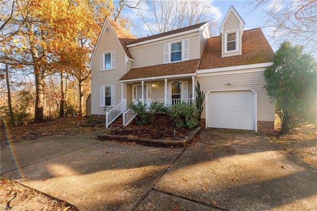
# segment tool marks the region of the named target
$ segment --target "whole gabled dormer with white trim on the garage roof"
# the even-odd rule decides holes
[[[230,6],[219,27],[222,57],[242,54],[244,24],[244,21],[235,8]]]

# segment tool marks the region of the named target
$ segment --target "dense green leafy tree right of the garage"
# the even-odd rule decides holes
[[[317,61],[303,46],[281,44],[273,64],[264,71],[267,94],[276,101],[280,133],[317,119]]]

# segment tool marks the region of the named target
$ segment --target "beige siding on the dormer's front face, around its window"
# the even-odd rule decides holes
[[[224,32],[230,32],[230,31],[234,31],[236,29],[239,29],[239,20],[237,19],[237,17],[234,15],[233,12],[230,13],[228,19],[226,20],[226,22],[224,23]],[[238,30],[238,35],[237,35],[237,42],[238,42],[238,52],[232,52],[232,53],[225,53],[224,49],[225,49],[225,43],[224,43],[224,36],[225,34],[223,34],[221,36],[221,40],[222,40],[222,57],[227,57],[227,56],[234,56],[234,55],[240,55],[241,54],[241,50],[242,50],[242,31],[240,32]]]

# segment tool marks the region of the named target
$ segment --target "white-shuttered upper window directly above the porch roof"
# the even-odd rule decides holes
[[[189,39],[164,44],[164,63],[189,59]]]

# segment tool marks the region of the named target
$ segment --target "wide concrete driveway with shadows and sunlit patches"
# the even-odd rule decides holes
[[[80,210],[317,209],[316,170],[254,131],[205,129],[181,149],[93,136],[2,147],[1,176]]]

